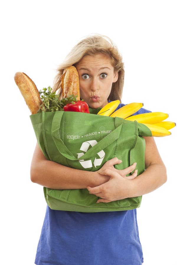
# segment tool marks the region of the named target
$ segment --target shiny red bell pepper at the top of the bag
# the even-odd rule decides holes
[[[76,111],[76,112],[89,112],[88,104],[83,100],[73,101],[72,103],[68,103],[63,107],[64,111]]]

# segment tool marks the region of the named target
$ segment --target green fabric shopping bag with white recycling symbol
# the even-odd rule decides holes
[[[152,136],[143,124],[118,117],[81,112],[40,112],[30,116],[37,142],[47,158],[62,165],[99,170],[106,161],[117,157],[124,169],[137,162],[138,174],[145,170],[145,140]],[[87,189],[53,190],[44,187],[45,200],[54,210],[100,212],[123,211],[140,207],[142,196],[110,203],[99,203]]]

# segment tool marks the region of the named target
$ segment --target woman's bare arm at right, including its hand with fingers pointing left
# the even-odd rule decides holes
[[[146,170],[133,180],[122,178],[121,175],[109,169],[102,171],[100,174],[108,175],[110,177],[109,181],[94,188],[87,187],[90,193],[101,198],[98,202],[110,202],[141,196],[154,191],[166,182],[166,168],[159,155],[154,138],[145,137],[145,142]]]

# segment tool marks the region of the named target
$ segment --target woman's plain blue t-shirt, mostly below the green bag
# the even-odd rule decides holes
[[[119,104],[118,108],[124,106]],[[118,109],[117,108],[117,109]],[[150,112],[140,109],[136,114]],[[136,209],[80,213],[47,206],[37,246],[37,265],[140,265]]]

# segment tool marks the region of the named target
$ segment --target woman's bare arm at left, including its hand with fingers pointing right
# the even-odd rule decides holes
[[[101,168],[114,170],[126,179],[134,179],[137,176],[137,171],[130,177],[126,177],[127,174],[132,172],[136,164],[131,165],[124,170],[117,170],[114,168],[115,164],[120,164],[122,161],[118,158],[113,158],[107,161]],[[32,157],[31,170],[30,170],[32,182],[38,183],[42,186],[52,189],[82,189],[87,186],[98,186],[109,180],[107,175],[103,176],[98,171],[91,172],[85,170],[78,170],[69,168],[64,165],[60,165],[56,162],[47,160],[43,155],[38,144]]]

